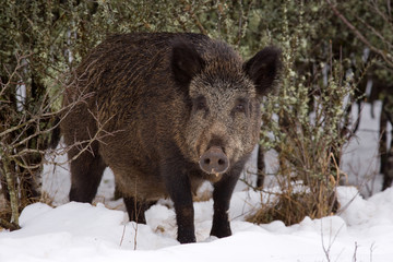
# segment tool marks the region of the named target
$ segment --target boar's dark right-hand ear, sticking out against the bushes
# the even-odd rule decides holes
[[[266,47],[243,64],[246,74],[253,81],[258,95],[272,90],[273,81],[281,68],[281,50]]]

